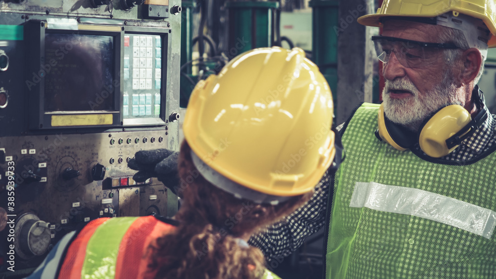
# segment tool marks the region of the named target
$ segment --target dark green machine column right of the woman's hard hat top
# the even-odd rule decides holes
[[[312,7],[311,60],[318,66],[331,87],[334,114],[336,114],[338,35],[332,27],[338,26],[339,2],[311,0],[310,7]]]

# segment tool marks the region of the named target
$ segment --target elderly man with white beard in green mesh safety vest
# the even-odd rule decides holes
[[[382,27],[383,103],[338,127],[346,160],[310,202],[250,239],[268,266],[324,227],[326,279],[496,278],[496,122],[477,86],[495,19],[495,0],[384,0],[358,19]]]

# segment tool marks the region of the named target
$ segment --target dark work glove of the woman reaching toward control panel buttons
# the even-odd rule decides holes
[[[179,152],[169,149],[141,150],[134,154],[127,166],[138,172],[132,176],[136,182],[144,182],[150,177],[158,180],[177,195],[174,188],[179,186]]]

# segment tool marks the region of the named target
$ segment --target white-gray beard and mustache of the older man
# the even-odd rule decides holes
[[[389,89],[408,90],[414,96],[393,99],[389,93],[385,93]],[[465,96],[461,93],[457,94],[454,78],[449,72],[445,72],[441,82],[427,91],[424,97],[419,97],[419,94],[417,87],[407,77],[393,81],[386,80],[382,91],[384,114],[392,122],[417,132],[424,120],[441,107],[452,104],[462,105],[465,101]]]

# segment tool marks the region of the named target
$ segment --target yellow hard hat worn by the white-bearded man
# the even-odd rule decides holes
[[[488,47],[496,47],[495,0],[384,0],[375,14],[359,17],[358,23],[380,27],[385,16],[436,17],[450,11],[482,19],[493,34]]]

